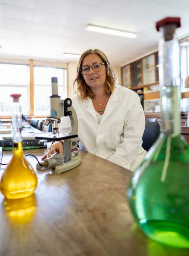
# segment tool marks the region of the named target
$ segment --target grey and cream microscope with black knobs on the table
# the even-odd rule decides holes
[[[47,141],[63,140],[63,155],[55,153],[51,157],[46,158],[40,164],[37,163],[36,168],[49,168],[55,169],[55,173],[59,174],[66,172],[81,163],[81,157],[78,155],[77,150],[77,131],[78,121],[77,114],[72,107],[72,100],[66,98],[60,99],[58,96],[57,77],[52,77],[52,96],[50,96],[50,116],[46,117],[44,125],[52,124],[52,133],[38,134],[36,139],[43,139]],[[71,121],[71,131],[69,133],[57,133],[58,124],[61,122],[61,116],[69,116]]]

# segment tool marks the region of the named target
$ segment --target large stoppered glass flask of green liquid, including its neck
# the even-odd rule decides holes
[[[127,196],[132,213],[151,239],[189,248],[189,145],[180,134],[180,18],[160,20],[159,79],[162,132],[134,172]]]

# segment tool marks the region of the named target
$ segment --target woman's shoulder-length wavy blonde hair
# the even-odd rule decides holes
[[[82,73],[80,72],[80,67],[82,67],[83,59],[86,57],[86,55],[90,54],[96,54],[98,55],[102,61],[105,63],[106,67],[106,81],[105,81],[105,93],[111,94],[114,90],[115,84],[117,84],[117,75],[114,71],[114,69],[111,67],[108,58],[106,57],[105,53],[100,51],[99,49],[89,49],[81,55],[78,64],[77,64],[77,75],[74,79],[74,90],[77,95],[77,97],[81,100],[87,99],[88,97],[92,99],[94,97],[94,94],[92,93],[91,88],[88,84],[86,84]]]

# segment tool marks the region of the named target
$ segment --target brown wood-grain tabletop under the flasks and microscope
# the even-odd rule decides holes
[[[24,153],[40,160],[44,151]],[[82,163],[68,172],[37,170],[31,197],[10,201],[0,194],[0,256],[189,256],[137,227],[126,198],[131,171],[85,151],[80,155]],[[2,162],[10,158],[11,151],[4,151]],[[34,157],[27,160],[35,169]]]

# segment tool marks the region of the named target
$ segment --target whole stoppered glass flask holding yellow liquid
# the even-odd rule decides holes
[[[23,155],[20,96],[20,94],[11,94],[13,97],[13,156],[0,180],[0,191],[8,199],[25,198],[32,195],[37,187],[37,176],[34,169]]]

